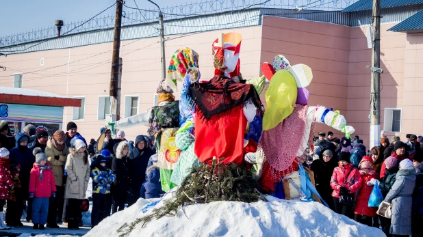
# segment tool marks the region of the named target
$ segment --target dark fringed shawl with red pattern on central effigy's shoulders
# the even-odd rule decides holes
[[[264,115],[264,106],[253,85],[235,83],[222,74],[214,76],[207,83],[192,83],[188,94],[203,113],[205,120],[209,120],[212,115],[230,111],[249,99],[254,103],[259,115]]]

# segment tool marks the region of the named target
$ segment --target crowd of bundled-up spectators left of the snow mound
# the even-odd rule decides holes
[[[36,133],[31,124],[23,130],[12,137],[8,123],[0,121],[0,206],[7,206],[0,212],[0,229],[22,227],[24,210],[34,229],[59,228],[57,223],[79,229],[88,198],[94,227],[139,197],[164,193],[149,137],[139,135],[133,143],[123,130],[112,139],[111,130],[101,128],[105,142],[97,150],[96,141],[87,144],[75,122],[51,137],[46,130]],[[92,197],[86,197],[90,178]]]

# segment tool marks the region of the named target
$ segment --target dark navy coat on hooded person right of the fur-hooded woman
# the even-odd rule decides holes
[[[144,148],[142,150],[133,148],[129,154],[131,163],[131,182],[134,193],[139,196],[142,183],[145,181],[145,171],[149,164],[150,156],[155,154],[151,148]]]

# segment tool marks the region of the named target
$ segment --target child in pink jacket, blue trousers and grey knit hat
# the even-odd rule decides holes
[[[55,197],[56,186],[51,165],[47,164],[47,156],[41,148],[35,148],[33,154],[36,156],[36,162],[29,179],[29,198],[34,199],[32,223],[34,223],[33,229],[44,229],[49,214],[49,200],[50,197]]]

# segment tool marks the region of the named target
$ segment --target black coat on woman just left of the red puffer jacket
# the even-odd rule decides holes
[[[325,150],[332,150],[333,156],[331,161],[323,161],[323,152]],[[311,163],[311,171],[314,173],[314,185],[322,199],[326,201],[329,206],[333,204],[333,199],[331,197],[332,188],[331,188],[331,178],[333,174],[333,169],[337,167],[337,156],[335,154],[335,145],[333,147],[326,147],[320,152],[319,159]]]

